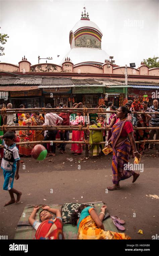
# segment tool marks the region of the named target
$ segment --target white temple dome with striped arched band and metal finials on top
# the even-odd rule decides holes
[[[89,14],[81,14],[81,20],[78,21],[69,33],[69,43],[71,50],[62,59],[70,58],[73,65],[76,64],[94,64],[102,65],[109,55],[101,49],[102,31],[89,19]]]

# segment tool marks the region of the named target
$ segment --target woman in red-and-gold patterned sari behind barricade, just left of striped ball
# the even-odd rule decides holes
[[[25,116],[26,116],[26,119],[22,122],[22,125],[24,126],[33,125],[32,119],[30,117],[30,113],[26,113]],[[33,135],[34,135],[34,131],[32,130],[19,131],[20,142],[33,141]],[[34,144],[19,145],[19,155],[24,157],[31,156],[33,147],[34,147]]]

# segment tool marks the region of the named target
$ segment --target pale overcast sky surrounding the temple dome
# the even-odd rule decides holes
[[[9,35],[1,62],[17,65],[25,55],[35,65],[40,55],[59,64],[70,50],[69,32],[81,19],[84,4],[90,20],[103,32],[102,50],[114,56],[117,65],[138,65],[159,56],[158,0],[5,0],[0,4],[1,33]]]

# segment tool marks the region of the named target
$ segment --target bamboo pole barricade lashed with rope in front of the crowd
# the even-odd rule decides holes
[[[97,113],[97,114],[106,114],[106,113],[116,113],[117,111],[106,111],[105,109],[103,108],[28,108],[28,109],[6,109],[6,108],[2,108],[1,109],[1,114],[2,116],[4,117],[4,125],[0,126],[0,130],[1,131],[19,131],[19,130],[48,130],[48,131],[55,131],[55,130],[61,130],[61,131],[84,131],[84,135],[85,135],[85,141],[59,141],[59,140],[56,140],[56,141],[27,141],[27,142],[19,142],[19,143],[16,143],[17,145],[22,145],[22,144],[44,144],[44,143],[66,143],[66,144],[74,144],[74,143],[79,143],[79,144],[85,144],[86,145],[86,148],[85,148],[85,152],[86,152],[86,157],[89,155],[89,150],[88,150],[88,144],[89,144],[89,141],[88,141],[88,135],[87,135],[87,131],[88,130],[97,130],[97,131],[109,131],[111,130],[111,128],[105,128],[105,127],[101,127],[101,128],[91,128],[91,127],[88,127],[86,126],[85,124],[85,127],[82,127],[82,126],[73,126],[73,125],[58,125],[58,126],[53,126],[53,125],[50,125],[50,126],[7,126],[6,125],[6,121],[7,121],[7,113],[10,113],[10,114],[13,114],[13,113],[35,113],[35,112],[38,112],[38,113],[48,113],[48,112],[52,112],[52,113],[56,113],[56,114],[59,114],[59,113],[76,113],[76,112],[83,112],[84,115],[87,115],[88,114],[91,114],[91,113]],[[159,115],[159,112],[158,113],[154,113],[154,112],[131,112],[132,114],[135,113],[135,114],[150,114],[150,115]],[[134,130],[159,130],[159,127],[133,127]],[[106,142],[99,142],[99,143],[93,143],[93,144],[105,144]],[[159,140],[144,140],[144,141],[136,141],[135,142],[136,144],[137,143],[155,143],[155,144],[159,144]],[[2,147],[0,145],[0,147]]]

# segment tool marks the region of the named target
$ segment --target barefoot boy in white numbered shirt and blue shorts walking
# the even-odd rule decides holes
[[[7,132],[2,138],[4,139],[2,143],[4,145],[4,154],[1,163],[4,176],[3,189],[8,190],[10,194],[10,201],[4,205],[7,206],[18,203],[22,194],[20,191],[13,188],[14,177],[16,180],[19,179],[20,157],[15,144],[15,134],[13,132]],[[17,195],[16,200],[14,194]]]

